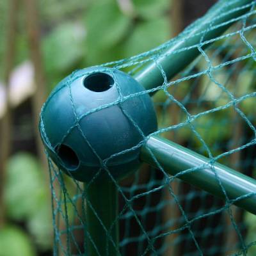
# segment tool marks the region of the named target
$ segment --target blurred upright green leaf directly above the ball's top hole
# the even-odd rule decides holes
[[[86,13],[86,64],[96,65],[120,56],[118,43],[127,35],[131,18],[113,0],[93,1]]]

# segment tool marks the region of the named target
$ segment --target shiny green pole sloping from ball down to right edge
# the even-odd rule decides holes
[[[256,214],[256,180],[223,164],[214,163],[214,168],[211,168],[210,159],[207,157],[158,136],[150,137],[141,149],[141,160],[156,168],[159,168],[157,165],[159,163],[170,175],[202,166],[179,175],[179,179],[223,199],[226,198],[225,193],[227,193],[228,199],[234,200],[232,202],[235,205]]]

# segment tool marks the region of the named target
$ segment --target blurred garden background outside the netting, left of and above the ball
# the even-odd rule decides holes
[[[215,2],[0,1],[0,256],[52,255],[49,173],[38,135],[52,88],[77,68],[166,42]]]

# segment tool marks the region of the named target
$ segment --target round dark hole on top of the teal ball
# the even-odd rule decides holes
[[[88,90],[93,92],[105,92],[114,84],[113,77],[106,73],[95,73],[84,78],[83,84]]]

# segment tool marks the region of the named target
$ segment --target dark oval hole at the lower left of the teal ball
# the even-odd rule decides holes
[[[72,148],[61,144],[56,147],[56,152],[67,169],[74,170],[79,166],[79,159]]]

